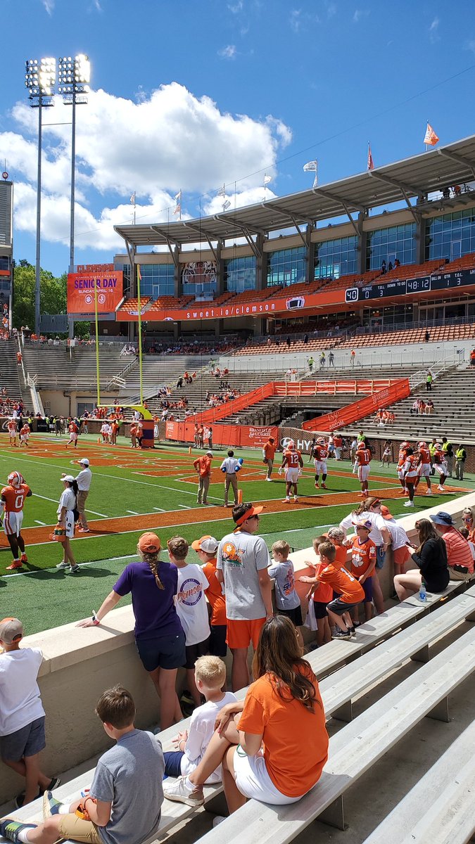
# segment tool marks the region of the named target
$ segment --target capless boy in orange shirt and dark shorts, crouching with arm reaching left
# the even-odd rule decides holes
[[[350,639],[356,633],[350,613],[363,601],[363,587],[344,565],[335,562],[336,547],[330,541],[319,544],[319,558],[325,567],[317,577],[308,578],[307,582],[327,583],[334,592],[338,592],[340,597],[334,598],[326,607],[330,623],[338,628],[331,638]]]

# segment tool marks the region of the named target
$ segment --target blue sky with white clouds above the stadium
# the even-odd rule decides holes
[[[216,213],[423,152],[429,120],[474,132],[472,0],[2,0],[0,162],[15,183],[14,256],[35,259],[37,111],[26,58],[89,55],[78,109],[76,262],[120,249],[116,223]],[[44,122],[67,122],[57,98]],[[70,127],[44,134],[41,263],[68,266]],[[234,184],[236,182],[236,184]]]

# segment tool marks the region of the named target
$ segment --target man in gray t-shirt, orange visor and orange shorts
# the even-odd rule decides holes
[[[259,528],[263,507],[238,504],[232,508],[236,524],[233,533],[221,539],[216,563],[216,579],[226,593],[227,643],[232,652],[232,690],[249,684],[248,647],[254,650],[259,633],[272,611],[269,551],[264,539],[253,534]]]

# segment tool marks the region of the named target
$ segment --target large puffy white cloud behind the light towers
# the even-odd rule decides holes
[[[35,232],[37,110],[20,102],[12,111],[18,131],[0,133],[0,148],[15,181],[15,227]],[[70,109],[56,97],[43,115],[41,235],[68,242]],[[273,116],[254,120],[220,111],[209,97],[195,97],[172,83],[140,92],[139,101],[91,92],[78,109],[76,130],[76,242],[78,248],[120,246],[113,225],[130,223],[130,195],[137,222],[175,221],[174,195],[183,188],[183,219],[197,215],[196,194],[210,196],[226,182],[241,206],[264,198],[264,172],[275,175],[279,149],[292,132]],[[271,194],[266,192],[267,198]],[[234,207],[232,196],[232,207]],[[222,211],[221,200],[205,199]],[[207,210],[205,213],[209,213]]]

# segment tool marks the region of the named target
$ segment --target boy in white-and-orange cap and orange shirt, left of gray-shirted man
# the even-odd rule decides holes
[[[227,654],[227,619],[226,619],[226,598],[224,595],[224,584],[216,577],[216,552],[219,542],[214,536],[207,534],[200,539],[195,539],[191,547],[196,551],[202,563],[202,571],[210,584],[205,589],[206,598],[211,607],[210,619],[210,654],[213,657],[226,657]]]

